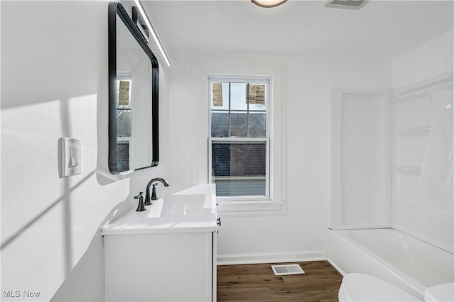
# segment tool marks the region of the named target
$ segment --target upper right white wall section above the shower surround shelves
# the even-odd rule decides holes
[[[454,30],[392,59],[392,88],[424,81],[454,70]]]

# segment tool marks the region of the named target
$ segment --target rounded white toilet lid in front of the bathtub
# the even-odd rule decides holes
[[[338,300],[344,301],[421,301],[407,291],[367,274],[350,273],[343,277]]]

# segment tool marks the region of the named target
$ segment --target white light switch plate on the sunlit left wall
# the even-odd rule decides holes
[[[82,141],[78,138],[60,138],[60,178],[82,172]]]

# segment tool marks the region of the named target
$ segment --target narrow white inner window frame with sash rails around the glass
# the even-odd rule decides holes
[[[255,83],[255,84],[265,84],[265,106],[266,106],[266,130],[265,138],[212,138],[212,84],[218,82],[230,82],[230,83]],[[270,164],[270,136],[272,128],[272,106],[271,106],[271,84],[272,79],[270,77],[242,77],[242,76],[232,76],[232,77],[217,77],[217,76],[208,76],[208,182],[211,184],[213,182],[212,175],[212,143],[213,142],[232,142],[232,143],[242,143],[242,142],[265,142],[266,145],[266,167],[265,167],[265,196],[219,196],[217,200],[219,203],[242,203],[242,202],[264,202],[272,201],[272,165]],[[230,112],[231,109],[228,109]],[[235,111],[235,110],[233,110]]]

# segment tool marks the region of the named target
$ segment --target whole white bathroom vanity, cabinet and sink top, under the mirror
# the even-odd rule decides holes
[[[106,301],[216,301],[214,184],[133,208],[102,235]]]

